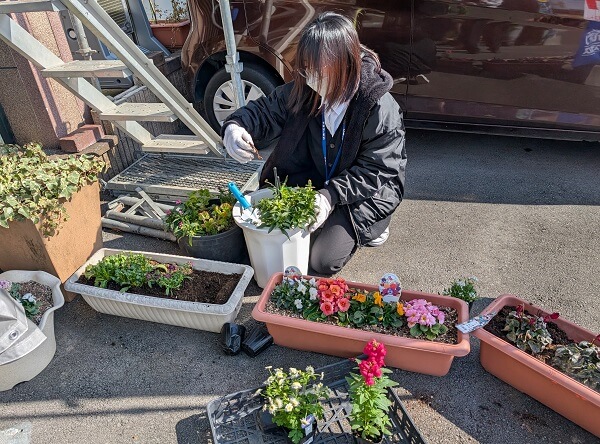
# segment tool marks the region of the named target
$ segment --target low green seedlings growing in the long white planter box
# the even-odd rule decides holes
[[[190,279],[191,264],[161,264],[143,254],[115,254],[102,258],[97,264],[88,265],[84,276],[94,279],[96,287],[107,288],[110,282],[121,287],[122,292],[130,288],[154,285],[163,288],[169,296],[178,290],[186,279]]]

